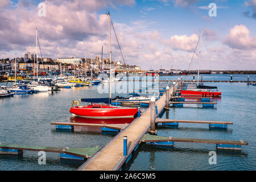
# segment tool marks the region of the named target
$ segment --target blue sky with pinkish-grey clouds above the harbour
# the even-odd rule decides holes
[[[43,57],[56,59],[59,47],[61,57],[95,57],[101,46],[109,57],[108,10],[126,64],[188,69],[201,30],[201,69],[256,69],[256,0],[0,1],[0,59],[34,52],[36,27]],[[113,30],[112,49],[123,62]],[[190,69],[198,56],[197,49]]]

